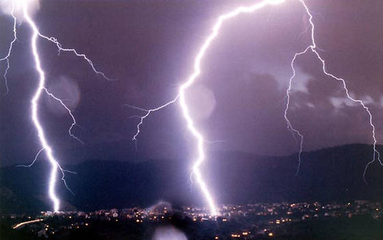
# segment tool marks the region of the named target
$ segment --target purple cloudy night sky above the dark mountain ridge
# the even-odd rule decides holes
[[[63,47],[85,53],[110,78],[95,75],[88,63],[40,39],[38,47],[47,86],[73,109],[79,125],[71,139],[69,115],[42,97],[40,119],[62,164],[90,158],[136,160],[193,156],[179,104],[150,115],[131,141],[138,119],[170,101],[192,73],[195,54],[217,16],[254,1],[42,1],[34,19],[40,32]],[[373,114],[378,143],[383,139],[383,1],[307,0],[315,37],[328,71],[343,77],[349,93],[365,101]],[[242,14],[222,27],[202,62],[202,73],[188,91],[196,125],[209,151],[287,155],[298,145],[286,128],[284,108],[291,59],[310,43],[308,18],[299,1],[286,1]],[[0,15],[0,53],[12,40],[12,19]],[[18,26],[5,93],[0,91],[0,163],[27,163],[40,149],[30,120],[29,99],[36,71],[29,49],[29,28]],[[325,77],[312,53],[295,64],[288,117],[305,136],[304,150],[347,143],[372,144],[369,116],[349,101],[341,82]],[[2,62],[1,74],[5,70]],[[372,155],[372,150],[371,150]],[[371,156],[372,157],[372,156]],[[44,157],[42,157],[44,158]]]

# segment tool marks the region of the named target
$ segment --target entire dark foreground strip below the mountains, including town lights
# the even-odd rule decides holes
[[[212,217],[203,208],[160,203],[91,213],[3,215],[0,239],[372,240],[383,239],[381,206],[365,201],[223,205],[219,217]]]

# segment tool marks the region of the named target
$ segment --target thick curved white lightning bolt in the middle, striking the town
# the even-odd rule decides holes
[[[134,141],[136,141],[136,137],[140,133],[140,125],[143,124],[143,120],[146,117],[148,117],[151,112],[155,112],[155,111],[160,110],[166,106],[169,106],[169,104],[173,104],[175,101],[177,101],[177,99],[180,99],[180,106],[182,108],[182,114],[184,116],[184,119],[186,120],[188,130],[195,137],[196,142],[197,142],[197,159],[194,162],[192,174],[193,174],[193,176],[195,176],[197,183],[199,184],[199,187],[200,187],[200,189],[201,189],[201,191],[202,191],[202,193],[206,199],[206,202],[208,202],[208,205],[210,208],[210,213],[212,215],[217,215],[218,211],[217,211],[217,208],[214,204],[214,200],[212,198],[212,195],[210,194],[210,191],[208,190],[208,187],[207,187],[205,181],[203,180],[203,177],[201,175],[201,171],[199,171],[199,167],[201,166],[201,164],[205,160],[205,152],[203,150],[203,143],[205,142],[205,140],[203,139],[203,135],[201,134],[201,132],[199,132],[199,130],[197,130],[197,128],[195,127],[194,122],[193,122],[193,118],[190,116],[188,104],[186,103],[186,99],[185,99],[186,90],[195,82],[195,80],[197,80],[197,77],[201,74],[201,61],[203,59],[203,56],[205,55],[205,53],[208,50],[208,47],[210,46],[212,41],[218,36],[219,29],[221,29],[221,26],[223,25],[223,23],[226,20],[232,19],[235,16],[238,16],[238,14],[251,13],[251,12],[254,12],[260,8],[265,7],[266,5],[277,5],[277,4],[280,4],[282,2],[284,2],[284,0],[264,0],[264,1],[260,1],[259,3],[255,3],[254,5],[247,6],[247,7],[242,6],[242,7],[235,8],[231,12],[227,12],[227,14],[223,14],[223,15],[219,16],[219,18],[217,19],[216,23],[214,24],[214,26],[212,28],[212,32],[210,33],[208,38],[206,38],[206,40],[203,42],[203,45],[201,46],[201,48],[199,49],[199,51],[197,53],[197,56],[195,57],[194,66],[193,66],[193,73],[190,75],[190,77],[188,77],[188,80],[180,86],[179,91],[178,91],[178,95],[175,97],[175,99],[173,99],[172,101],[169,101],[168,103],[166,103],[162,106],[159,106],[158,108],[154,108],[154,109],[150,109],[150,110],[145,110],[143,108],[137,108],[137,109],[146,111],[147,114],[140,118],[140,122],[137,125],[137,132],[133,137]],[[134,108],[136,108],[136,107],[134,107]]]

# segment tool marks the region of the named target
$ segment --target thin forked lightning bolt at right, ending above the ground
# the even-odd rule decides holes
[[[303,145],[304,145],[304,136],[298,130],[293,128],[293,125],[291,125],[291,121],[287,117],[287,115],[288,115],[288,106],[290,104],[291,85],[292,85],[293,79],[295,77],[295,68],[294,68],[295,60],[297,59],[298,56],[304,55],[308,51],[311,51],[312,53],[314,53],[314,56],[317,57],[319,62],[321,62],[321,67],[322,67],[323,73],[326,76],[331,77],[333,80],[341,82],[341,84],[343,86],[343,90],[345,91],[345,95],[347,96],[347,98],[350,99],[351,101],[356,102],[357,104],[360,104],[360,106],[362,106],[362,108],[365,110],[365,112],[367,112],[367,115],[369,115],[369,125],[371,126],[372,139],[373,139],[373,158],[372,158],[372,160],[369,163],[367,163],[367,165],[365,167],[365,171],[363,172],[363,180],[365,180],[365,182],[367,183],[365,176],[366,176],[367,169],[368,169],[369,165],[374,163],[375,160],[378,160],[379,163],[381,165],[383,165],[382,160],[380,160],[380,152],[378,152],[378,150],[376,149],[377,140],[376,140],[376,136],[375,136],[375,125],[373,124],[373,116],[372,116],[371,111],[369,110],[369,108],[365,105],[365,103],[362,100],[356,99],[354,97],[351,97],[351,95],[349,94],[349,90],[347,88],[347,84],[346,84],[346,82],[345,82],[345,80],[343,78],[336,77],[336,75],[334,75],[332,73],[329,73],[326,70],[325,60],[319,54],[317,43],[315,43],[315,38],[314,38],[315,26],[314,26],[314,23],[312,21],[312,14],[310,13],[310,10],[308,9],[308,7],[307,7],[306,3],[304,2],[304,0],[299,0],[299,2],[301,2],[302,5],[304,6],[304,10],[306,11],[306,13],[308,14],[308,17],[309,17],[308,20],[309,20],[309,23],[310,23],[311,43],[310,43],[310,45],[308,47],[306,47],[306,49],[304,49],[304,51],[300,51],[298,53],[295,53],[295,55],[293,57],[293,60],[291,60],[291,69],[293,70],[293,75],[291,75],[290,80],[288,82],[288,88],[286,90],[287,103],[286,103],[286,109],[284,111],[284,119],[286,119],[288,130],[291,130],[293,135],[297,134],[299,136],[299,138],[301,139],[300,148],[299,148],[299,154],[298,154],[298,162],[299,163],[298,163],[296,174],[299,173],[299,168],[301,166],[301,153],[302,153],[302,149],[303,149]]]

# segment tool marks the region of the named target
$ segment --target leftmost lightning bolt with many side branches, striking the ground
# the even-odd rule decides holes
[[[56,178],[57,178],[57,173],[58,173],[58,171],[61,172],[61,180],[64,182],[64,185],[65,185],[66,189],[68,189],[74,195],[73,191],[71,191],[71,189],[69,189],[68,184],[66,184],[65,174],[64,173],[65,172],[75,173],[75,172],[68,171],[66,169],[63,169],[60,166],[60,164],[58,163],[58,160],[56,160],[56,158],[53,156],[53,149],[51,148],[51,146],[49,145],[49,143],[48,143],[48,141],[47,141],[47,139],[45,137],[44,129],[42,128],[42,125],[41,125],[41,123],[40,123],[40,121],[38,119],[38,101],[39,101],[40,96],[42,95],[42,93],[45,93],[49,97],[55,99],[56,101],[58,101],[58,103],[62,107],[64,107],[66,109],[66,111],[69,113],[69,115],[71,116],[71,119],[72,119],[72,124],[71,124],[71,126],[70,126],[70,128],[68,130],[69,136],[71,136],[73,139],[76,139],[80,143],[82,143],[82,141],[80,139],[78,139],[72,133],[73,127],[76,125],[76,120],[75,120],[75,117],[73,116],[73,114],[71,112],[71,109],[68,106],[66,106],[66,104],[64,104],[64,101],[62,101],[62,99],[60,99],[59,97],[56,97],[55,95],[50,93],[48,91],[48,89],[45,87],[45,72],[44,72],[44,70],[41,67],[40,56],[39,56],[38,48],[37,48],[37,45],[36,45],[38,38],[39,37],[40,38],[44,38],[45,40],[49,40],[49,42],[55,44],[56,47],[58,48],[58,54],[60,54],[60,51],[68,51],[68,52],[74,53],[79,58],[83,58],[84,60],[86,60],[88,62],[88,64],[90,65],[92,71],[94,71],[96,74],[101,75],[103,78],[105,78],[106,80],[109,80],[109,81],[112,81],[112,79],[107,77],[103,72],[98,71],[94,67],[92,61],[85,54],[78,53],[75,49],[64,48],[64,47],[62,47],[62,45],[58,42],[58,40],[56,38],[47,37],[47,36],[41,34],[39,32],[39,30],[38,30],[38,27],[36,26],[36,23],[34,23],[34,21],[32,20],[31,16],[29,16],[28,8],[27,8],[28,7],[27,6],[27,1],[17,1],[17,0],[14,0],[14,1],[12,1],[12,12],[11,12],[12,18],[14,20],[14,25],[13,25],[14,39],[10,43],[10,47],[8,49],[8,54],[4,58],[0,59],[0,61],[6,60],[6,62],[7,62],[7,68],[5,69],[5,73],[3,74],[3,77],[5,78],[5,86],[7,88],[7,92],[6,93],[8,93],[8,89],[9,89],[8,88],[8,84],[7,84],[7,77],[6,77],[6,75],[8,73],[8,70],[10,69],[10,64],[9,64],[10,53],[12,51],[13,44],[15,43],[15,41],[17,39],[16,38],[16,21],[17,21],[17,19],[16,19],[16,16],[14,14],[14,10],[16,9],[16,5],[17,5],[17,7],[21,7],[22,8],[23,19],[25,19],[25,21],[27,22],[29,27],[32,29],[31,48],[32,48],[32,54],[34,56],[35,69],[38,72],[38,76],[39,76],[39,82],[38,82],[38,88],[36,89],[36,92],[34,93],[34,96],[31,99],[31,105],[32,105],[32,115],[31,115],[31,117],[32,117],[32,122],[34,123],[34,127],[36,128],[36,131],[38,132],[38,139],[40,141],[40,145],[42,146],[42,148],[36,154],[36,156],[35,156],[35,158],[34,158],[34,160],[32,161],[31,164],[29,164],[29,165],[18,165],[18,167],[31,167],[36,162],[36,160],[37,160],[38,156],[40,155],[40,153],[42,151],[45,151],[46,156],[47,156],[47,158],[49,160],[49,163],[51,164],[51,173],[50,173],[50,177],[49,177],[48,193],[49,193],[49,198],[53,202],[53,211],[57,212],[60,209],[60,200],[59,200],[58,196],[55,193],[55,182],[56,182]]]

